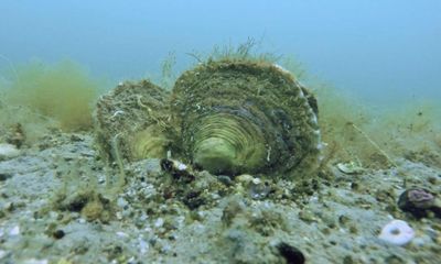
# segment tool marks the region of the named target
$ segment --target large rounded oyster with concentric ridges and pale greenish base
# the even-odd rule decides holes
[[[318,164],[315,98],[270,63],[201,64],[176,80],[171,111],[183,156],[213,174],[295,176]]]

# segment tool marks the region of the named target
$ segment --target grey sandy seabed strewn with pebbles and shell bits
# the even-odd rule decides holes
[[[144,160],[110,188],[120,172],[93,145],[90,134],[54,133],[0,162],[0,263],[440,263],[440,219],[397,206],[405,187],[440,194],[440,168],[400,158],[349,175],[331,164],[299,197],[295,182],[206,172],[189,191]],[[82,189],[95,195],[82,200]],[[97,212],[84,208],[92,196]],[[378,238],[392,219],[413,229],[406,245]]]

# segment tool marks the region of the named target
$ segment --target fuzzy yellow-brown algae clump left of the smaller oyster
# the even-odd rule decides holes
[[[36,62],[20,68],[6,97],[11,105],[53,118],[65,131],[79,131],[92,128],[93,102],[99,88],[75,63],[47,66]]]

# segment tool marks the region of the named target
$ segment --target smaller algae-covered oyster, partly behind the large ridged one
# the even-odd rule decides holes
[[[164,158],[172,142],[169,95],[149,80],[141,80],[119,84],[103,96],[95,112],[101,156],[108,161]]]

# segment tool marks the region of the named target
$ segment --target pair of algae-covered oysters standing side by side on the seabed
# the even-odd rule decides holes
[[[283,68],[248,59],[208,61],[172,92],[120,84],[96,111],[101,155],[166,157],[213,174],[297,177],[318,165],[314,96]]]

